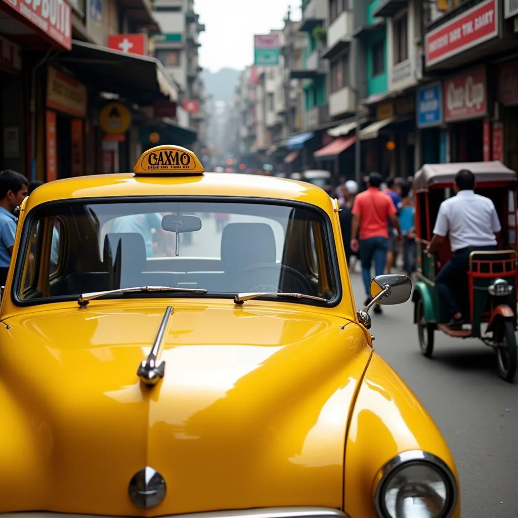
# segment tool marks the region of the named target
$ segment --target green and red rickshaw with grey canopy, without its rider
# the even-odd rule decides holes
[[[451,329],[450,315],[435,290],[435,278],[451,256],[447,237],[434,254],[424,253],[433,236],[440,204],[455,195],[454,178],[461,169],[475,175],[475,192],[493,200],[502,230],[498,250],[473,251],[468,275],[458,279],[458,301],[469,324]],[[455,338],[480,338],[493,347],[499,375],[511,382],[516,373],[516,172],[501,162],[426,164],[414,176],[416,276],[414,323],[418,326],[421,352],[431,357],[434,332],[441,330]]]

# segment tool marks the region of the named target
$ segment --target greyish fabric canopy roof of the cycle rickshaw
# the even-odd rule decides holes
[[[414,176],[413,188],[415,191],[423,191],[434,184],[453,184],[455,175],[461,169],[472,171],[477,183],[516,181],[516,171],[509,169],[497,160],[492,162],[424,164]]]

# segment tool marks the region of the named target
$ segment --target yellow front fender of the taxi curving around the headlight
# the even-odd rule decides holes
[[[404,381],[376,353],[359,390],[346,443],[344,510],[377,518],[373,480],[391,458],[424,450],[445,462],[458,481],[455,462],[439,429]],[[452,518],[461,516],[460,498]]]

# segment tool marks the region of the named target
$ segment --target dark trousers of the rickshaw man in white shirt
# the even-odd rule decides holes
[[[461,313],[455,292],[458,289],[466,289],[469,254],[473,250],[491,251],[498,250],[498,247],[466,247],[461,250],[456,250],[452,253],[450,261],[439,270],[435,278],[435,287],[439,293],[439,301],[446,306],[449,316],[453,316],[455,313]]]

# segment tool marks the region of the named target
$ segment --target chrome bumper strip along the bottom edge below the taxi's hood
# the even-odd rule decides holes
[[[93,514],[65,514],[52,512],[0,513],[1,518],[113,518]],[[327,507],[267,507],[188,514],[168,514],[161,518],[350,518],[339,509]],[[119,517],[122,518],[122,517]]]

